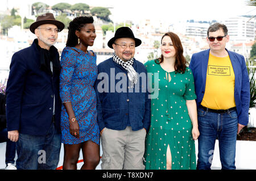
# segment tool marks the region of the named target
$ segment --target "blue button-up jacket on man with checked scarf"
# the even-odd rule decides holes
[[[109,58],[98,66],[98,79],[94,84],[97,95],[97,121],[100,131],[103,128],[123,130],[130,123],[131,129],[137,131],[150,128],[151,100],[148,99],[147,70],[145,66],[134,59],[133,68],[138,74],[145,73],[146,82],[138,78],[137,86],[129,89],[127,71]],[[101,75],[104,75],[101,77]],[[118,77],[123,75],[123,77]],[[104,83],[104,90],[100,90]],[[118,90],[120,83],[127,83],[125,91]],[[119,86],[118,86],[119,85]],[[125,86],[122,84],[122,86]],[[135,88],[139,90],[135,90]],[[129,90],[129,91],[128,91]]]

